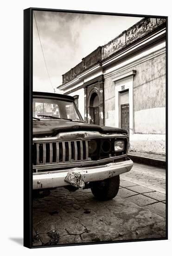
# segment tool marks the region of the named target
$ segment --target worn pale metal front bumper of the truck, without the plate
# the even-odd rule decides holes
[[[33,173],[33,189],[48,189],[69,185],[64,179],[69,171],[80,173],[84,182],[101,181],[125,172],[129,172],[133,166],[133,161],[108,163],[95,167],[70,168],[57,171],[47,171],[44,173]]]

